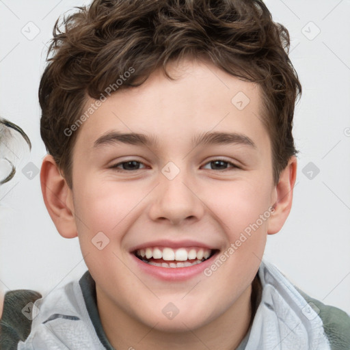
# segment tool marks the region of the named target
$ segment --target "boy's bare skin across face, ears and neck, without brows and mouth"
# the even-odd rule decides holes
[[[258,85],[208,62],[173,62],[170,68],[176,81],[157,70],[141,86],[111,95],[83,123],[72,154],[72,189],[46,156],[42,193],[59,233],[79,237],[113,347],[235,349],[249,326],[251,283],[267,234],[282,228],[291,209],[297,162],[292,157],[273,184]],[[231,102],[238,92],[250,98],[242,110]],[[152,134],[159,142],[94,147],[110,131]],[[192,137],[206,132],[239,133],[255,147],[194,147]],[[218,169],[211,163],[217,159],[229,163]],[[111,168],[133,160],[141,162],[134,167],[139,170]],[[180,170],[172,180],[161,172],[170,161]],[[272,206],[269,218],[210,276],[164,282],[142,273],[130,252],[157,239],[191,239],[222,254]],[[92,244],[97,232],[109,238],[103,250]],[[171,320],[162,312],[170,302],[179,310]]]

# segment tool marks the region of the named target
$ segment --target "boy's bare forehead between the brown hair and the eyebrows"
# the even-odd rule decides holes
[[[92,148],[111,131],[144,133],[154,144],[180,147],[208,131],[234,132],[269,148],[262,124],[260,87],[208,62],[173,62],[165,77],[154,71],[139,87],[107,97],[80,127],[77,144]],[[96,100],[89,99],[85,111]]]

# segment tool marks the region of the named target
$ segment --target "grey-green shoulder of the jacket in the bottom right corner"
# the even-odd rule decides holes
[[[349,349],[350,347],[350,316],[334,306],[325,305],[297,288],[297,291],[316,311],[323,322],[325,334],[332,350]]]

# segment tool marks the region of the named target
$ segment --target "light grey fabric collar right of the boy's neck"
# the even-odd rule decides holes
[[[258,275],[262,296],[245,350],[330,350],[321,318],[293,284],[269,262]]]

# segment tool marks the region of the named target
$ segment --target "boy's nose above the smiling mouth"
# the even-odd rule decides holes
[[[189,174],[180,171],[170,180],[159,174],[159,185],[154,189],[149,215],[154,221],[169,221],[178,225],[184,221],[198,221],[204,215],[205,205]]]

